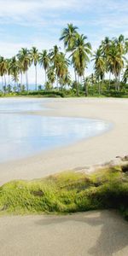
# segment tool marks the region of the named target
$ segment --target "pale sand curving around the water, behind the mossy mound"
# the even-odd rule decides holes
[[[1,184],[12,179],[44,177],[128,154],[128,99],[51,99],[45,106],[51,110],[36,114],[104,119],[113,123],[113,129],[68,147],[0,164]]]

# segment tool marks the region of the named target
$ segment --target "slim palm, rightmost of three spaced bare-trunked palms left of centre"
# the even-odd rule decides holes
[[[49,68],[49,54],[46,49],[44,49],[41,53],[39,53],[38,62],[40,66],[44,67],[45,71],[45,84],[47,83],[47,71]]]

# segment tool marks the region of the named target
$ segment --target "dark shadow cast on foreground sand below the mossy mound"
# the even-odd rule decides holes
[[[91,226],[95,229],[97,227],[97,229],[100,230],[100,236],[97,235],[98,237],[96,237],[95,240],[96,244],[93,247],[90,246],[88,255],[112,256],[113,254],[116,255],[116,253],[128,246],[128,223],[114,211],[94,211],[54,217],[47,216],[42,220],[37,221],[36,224],[63,224],[71,221],[74,222],[74,225],[76,225],[77,222],[82,222],[84,229],[87,228],[90,230],[89,226]],[[77,234],[77,236],[80,236],[79,234]],[[91,229],[90,237],[92,237],[92,240],[94,236],[96,236],[96,230],[93,234]],[[84,239],[86,241],[86,237],[84,237]]]

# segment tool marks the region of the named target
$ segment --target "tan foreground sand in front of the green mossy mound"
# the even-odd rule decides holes
[[[126,256],[128,224],[116,212],[0,218],[0,254]]]

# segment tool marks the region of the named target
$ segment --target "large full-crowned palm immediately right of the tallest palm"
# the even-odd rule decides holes
[[[86,36],[78,35],[73,46],[72,63],[75,73],[78,74],[79,78],[84,79],[84,71],[87,67],[87,63],[90,61],[91,45],[86,43]],[[79,87],[77,86],[77,95],[79,95]]]

